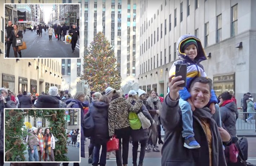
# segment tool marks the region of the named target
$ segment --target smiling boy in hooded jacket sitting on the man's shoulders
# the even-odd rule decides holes
[[[187,65],[187,78],[186,87],[179,91],[180,100],[179,106],[182,112],[182,137],[185,138],[184,147],[189,149],[200,148],[200,144],[194,138],[193,132],[193,118],[192,111],[195,111],[195,106],[191,102],[191,95],[189,93],[189,85],[195,77],[207,77],[204,72],[201,61],[206,60],[207,57],[204,53],[201,41],[194,35],[183,35],[177,42],[177,53],[179,60],[173,63],[169,76],[175,75],[176,64]],[[198,99],[198,102],[202,102]],[[221,127],[220,107],[217,104],[217,97],[211,90],[211,98],[207,107],[211,109],[213,119],[216,121],[217,126]],[[216,111],[216,112],[215,112]]]

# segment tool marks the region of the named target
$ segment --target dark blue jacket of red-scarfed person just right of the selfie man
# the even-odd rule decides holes
[[[230,100],[232,101],[232,100]],[[238,118],[237,105],[235,102],[225,104],[220,107],[221,122],[224,124],[229,134],[232,136],[237,135],[235,124]]]

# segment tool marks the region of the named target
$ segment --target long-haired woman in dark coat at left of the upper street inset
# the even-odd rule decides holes
[[[14,57],[15,58],[18,58],[17,51],[19,53],[19,57],[21,58],[21,50],[19,50],[18,46],[16,46],[16,39],[18,37],[23,38],[22,31],[18,30],[18,25],[17,24],[14,24],[13,25],[13,30],[11,31],[10,36],[9,36],[9,38],[7,40],[8,41],[12,41]],[[9,54],[8,54],[8,57],[9,57]]]

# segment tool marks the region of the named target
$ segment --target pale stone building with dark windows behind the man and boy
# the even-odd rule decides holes
[[[155,12],[147,10],[149,4],[140,1],[140,88],[167,94],[168,73],[178,59],[176,42],[193,34],[204,46],[208,60],[201,63],[217,95],[227,90],[237,99],[248,91],[256,95],[256,1],[164,0]]]

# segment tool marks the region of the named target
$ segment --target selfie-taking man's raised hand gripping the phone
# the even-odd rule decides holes
[[[176,101],[179,96],[179,91],[183,89],[183,87],[179,87],[179,85],[184,84],[184,80],[179,81],[182,78],[182,76],[171,75],[169,77],[169,98],[172,101]]]

